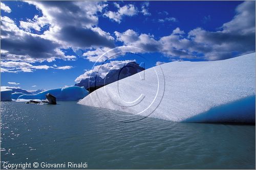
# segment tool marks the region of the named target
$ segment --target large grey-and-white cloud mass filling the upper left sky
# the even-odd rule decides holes
[[[97,27],[98,13],[108,6],[106,2],[24,2],[34,5],[41,11],[42,16],[35,15],[32,19],[19,20],[19,26],[13,19],[1,16],[2,61],[34,63],[52,62],[55,59],[75,60],[76,56],[66,56],[60,49],[71,47],[75,51],[78,48],[115,46],[110,33]],[[2,4],[1,9],[6,7]],[[40,31],[42,32],[39,33]],[[32,69],[24,68],[24,71]]]

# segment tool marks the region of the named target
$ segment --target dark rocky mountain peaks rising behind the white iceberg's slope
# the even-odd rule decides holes
[[[100,87],[103,87],[104,85],[132,76],[143,70],[144,68],[140,67],[139,64],[137,64],[136,62],[129,62],[120,69],[111,70],[104,77],[104,79],[98,76],[90,77],[90,78],[81,80],[79,83],[76,83],[75,86],[84,87],[88,91],[92,92]]]

